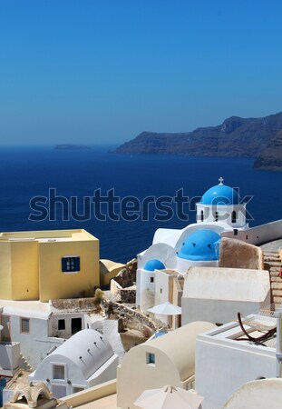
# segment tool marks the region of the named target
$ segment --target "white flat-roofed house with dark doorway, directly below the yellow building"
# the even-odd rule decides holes
[[[64,340],[93,322],[102,320],[101,314],[93,314],[91,299],[40,301],[0,301],[2,341],[19,343],[25,362],[33,369],[47,354],[63,344]],[[2,310],[2,312],[1,312]],[[15,347],[13,348],[15,349]]]

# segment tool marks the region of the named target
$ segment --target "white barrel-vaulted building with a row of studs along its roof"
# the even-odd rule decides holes
[[[60,398],[114,379],[118,361],[102,334],[85,329],[44,358],[29,380],[44,382]]]

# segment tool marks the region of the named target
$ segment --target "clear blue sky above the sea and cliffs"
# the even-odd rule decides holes
[[[1,0],[0,144],[282,111],[280,0]]]

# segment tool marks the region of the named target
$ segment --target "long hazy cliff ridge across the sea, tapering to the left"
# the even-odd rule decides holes
[[[258,157],[281,129],[282,113],[247,119],[231,116],[222,125],[198,128],[183,134],[142,132],[115,152]]]

